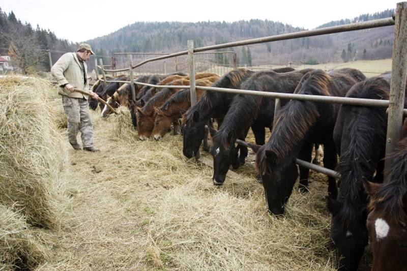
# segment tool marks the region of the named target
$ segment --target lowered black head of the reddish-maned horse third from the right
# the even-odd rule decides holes
[[[256,168],[260,175],[266,196],[269,213],[282,215],[284,204],[293,191],[298,177],[295,160],[281,161],[273,150],[261,146],[256,153]]]

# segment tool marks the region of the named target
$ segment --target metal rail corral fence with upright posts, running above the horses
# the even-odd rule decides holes
[[[392,73],[391,73],[391,83],[390,83],[390,99],[389,100],[374,100],[374,99],[359,99],[359,98],[345,98],[345,97],[324,97],[324,96],[314,96],[314,95],[299,95],[299,94],[282,94],[282,93],[271,93],[271,92],[258,92],[258,91],[249,91],[245,89],[229,89],[229,88],[219,88],[219,87],[208,87],[208,86],[196,86],[195,85],[195,58],[197,53],[205,52],[209,50],[217,50],[223,48],[230,48],[236,46],[251,45],[257,43],[265,42],[274,42],[295,38],[303,37],[312,37],[318,35],[326,35],[333,33],[341,33],[348,31],[356,31],[361,29],[382,27],[395,25],[394,29],[394,42],[393,42],[393,55],[392,55]],[[180,57],[183,55],[188,56],[188,72],[190,75],[190,86],[167,86],[167,85],[152,85],[155,87],[177,87],[177,88],[190,88],[191,91],[191,105],[196,103],[196,93],[195,89],[203,89],[206,91],[217,91],[225,93],[234,93],[234,94],[245,94],[245,95],[255,95],[262,97],[275,98],[275,107],[277,112],[280,107],[280,99],[292,99],[292,100],[303,100],[303,101],[313,101],[313,102],[322,102],[322,103],[339,103],[347,104],[354,106],[372,106],[372,107],[387,107],[388,108],[388,126],[387,126],[387,137],[386,137],[386,157],[392,153],[400,140],[400,132],[402,127],[402,117],[404,110],[404,89],[405,89],[405,80],[406,80],[406,66],[407,66],[407,2],[397,3],[396,11],[393,17],[371,20],[366,22],[358,22],[345,24],[340,26],[325,27],[319,29],[312,29],[309,31],[301,31],[296,33],[275,35],[270,37],[263,37],[257,39],[244,40],[239,42],[230,42],[224,44],[217,44],[212,46],[194,48],[193,41],[188,41],[188,49],[186,51],[181,51],[177,53],[166,54],[162,56],[156,56],[149,59],[144,59],[136,65],[133,65],[133,59],[129,56],[128,67],[124,69],[116,70],[105,70],[103,67],[103,62],[100,59],[100,66],[102,70],[102,75],[105,77],[105,72],[125,72],[128,71],[130,74],[130,81],[122,82],[132,82],[134,81],[134,71],[138,67],[145,65],[147,63],[162,61],[163,59]],[[107,81],[105,78],[102,79],[104,83],[114,82]],[[145,83],[138,83],[140,85],[149,85]],[[135,89],[132,85],[132,98],[135,99]],[[245,144],[244,141],[238,141],[239,144]],[[386,159],[385,162],[385,172],[387,168],[392,163],[391,159]],[[305,161],[297,159],[297,164],[300,164],[303,167],[330,175],[339,177],[339,173],[333,170],[319,167],[307,163]]]

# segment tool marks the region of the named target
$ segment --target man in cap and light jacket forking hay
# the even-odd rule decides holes
[[[89,89],[88,73],[85,61],[94,54],[89,44],[82,43],[75,53],[66,53],[52,66],[51,73],[63,92],[62,104],[68,116],[68,140],[76,150],[81,149],[76,135],[80,130],[83,149],[88,152],[98,152],[93,146],[93,126],[89,113],[88,95],[75,92],[82,89],[90,93],[93,99],[98,95]]]

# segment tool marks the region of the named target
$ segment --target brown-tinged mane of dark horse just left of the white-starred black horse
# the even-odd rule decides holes
[[[248,75],[251,75],[253,72],[247,69],[236,69],[228,72],[223,75],[219,80],[215,81],[211,86],[212,87],[228,87],[228,88],[239,88],[243,79]],[[212,110],[212,97],[213,93],[206,92],[202,98],[194,106],[188,109],[187,112],[182,117],[182,124],[191,125],[192,119],[195,111],[202,110]]]

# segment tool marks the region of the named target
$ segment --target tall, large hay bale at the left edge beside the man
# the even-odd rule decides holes
[[[67,155],[49,103],[53,89],[38,78],[0,79],[0,203],[31,225],[60,225],[60,184]]]

